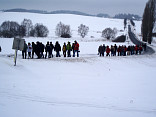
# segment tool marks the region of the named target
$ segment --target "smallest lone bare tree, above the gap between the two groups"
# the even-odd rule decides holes
[[[88,34],[88,31],[89,31],[89,27],[86,26],[86,25],[83,25],[81,24],[79,27],[78,27],[78,34],[84,38],[87,34]]]

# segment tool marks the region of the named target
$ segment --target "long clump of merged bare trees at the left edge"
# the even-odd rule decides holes
[[[12,37],[47,37],[49,30],[43,24],[37,23],[33,26],[30,19],[24,19],[19,25],[14,21],[5,21],[0,26],[0,37],[12,38]]]

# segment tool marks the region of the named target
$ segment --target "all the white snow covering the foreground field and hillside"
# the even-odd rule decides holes
[[[21,22],[29,18],[50,30],[47,38],[25,38],[26,42],[59,41],[80,44],[79,58],[23,60],[18,52],[14,66],[13,39],[0,38],[0,117],[155,117],[156,54],[129,57],[99,57],[97,48],[106,27],[123,29],[123,20],[75,15],[0,13],[5,20]],[[62,21],[71,25],[71,39],[54,34]],[[81,24],[90,27],[85,39],[77,35]],[[141,22],[136,22],[140,33]],[[94,36],[95,38],[90,38]],[[117,45],[128,43],[117,43]],[[130,42],[131,44],[131,42]],[[156,50],[156,46],[152,46]],[[55,53],[54,53],[55,54]],[[62,53],[61,53],[62,54]]]

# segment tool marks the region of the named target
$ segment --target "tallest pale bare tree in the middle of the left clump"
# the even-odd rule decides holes
[[[33,24],[32,24],[32,21],[30,19],[24,19],[21,23],[21,26],[23,28],[23,31],[25,30],[26,33],[25,33],[25,36],[30,36],[30,31],[32,30],[33,28]],[[24,29],[25,28],[25,29]]]

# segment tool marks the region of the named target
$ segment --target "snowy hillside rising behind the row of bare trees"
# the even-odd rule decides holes
[[[118,30],[123,30],[123,20],[120,19],[109,19],[109,18],[98,18],[98,17],[90,17],[90,16],[79,16],[72,14],[34,14],[34,13],[0,13],[0,24],[6,20],[16,21],[19,24],[23,21],[24,18],[31,19],[33,24],[42,23],[46,25],[50,31],[49,37],[55,36],[55,28],[56,25],[61,21],[66,25],[71,26],[72,36],[78,37],[78,26],[80,24],[84,24],[89,26],[89,34],[88,37],[94,36],[96,38],[101,38],[101,32],[105,28],[114,28],[116,27]],[[136,22],[136,28],[138,33],[140,33],[140,25],[141,22]]]

